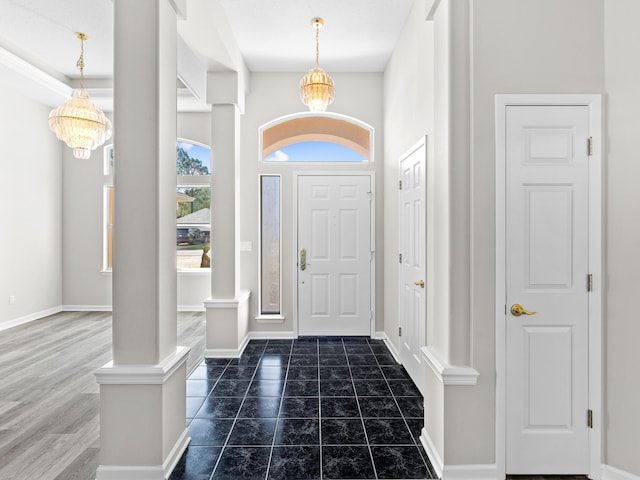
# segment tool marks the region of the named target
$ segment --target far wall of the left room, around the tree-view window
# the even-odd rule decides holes
[[[114,119],[117,121],[117,118]],[[210,144],[208,113],[178,114],[177,136]],[[112,142],[113,139],[109,140]],[[89,160],[78,160],[70,149],[63,150],[63,297],[71,308],[111,306],[111,274],[103,273],[103,149]],[[117,159],[116,159],[117,165]],[[116,166],[117,168],[117,166]],[[114,219],[117,225],[117,220]],[[114,228],[117,228],[114,227]],[[140,232],[140,240],[144,232]],[[135,241],[134,243],[135,244]],[[133,245],[132,244],[132,245]],[[137,248],[144,248],[140,243]],[[210,276],[178,275],[178,306],[202,308],[210,296]]]

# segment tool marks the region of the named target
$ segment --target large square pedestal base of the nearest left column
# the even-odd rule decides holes
[[[187,347],[158,365],[113,365],[100,384],[97,480],[164,480],[191,438],[186,428]]]

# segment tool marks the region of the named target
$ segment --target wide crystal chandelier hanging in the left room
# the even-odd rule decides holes
[[[80,89],[74,91],[71,100],[51,110],[49,127],[59,140],[73,149],[73,156],[88,159],[95,150],[111,138],[111,121],[97,108],[84,91],[84,42],[87,35],[76,32],[80,40],[80,58],[76,63],[80,70]]]

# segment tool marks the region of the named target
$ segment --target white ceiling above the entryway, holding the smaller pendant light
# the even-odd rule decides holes
[[[382,72],[413,0],[221,0],[251,71],[305,71],[315,61],[329,72]]]

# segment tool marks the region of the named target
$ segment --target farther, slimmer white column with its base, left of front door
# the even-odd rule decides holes
[[[211,72],[211,298],[206,357],[238,357],[249,331],[249,295],[240,290],[240,115],[244,92],[236,72]]]

